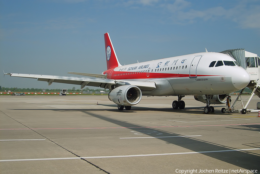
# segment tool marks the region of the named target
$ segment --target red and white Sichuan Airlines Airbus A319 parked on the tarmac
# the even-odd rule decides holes
[[[108,33],[104,34],[107,70],[101,74],[68,72],[88,77],[4,73],[12,77],[36,78],[49,85],[67,83],[109,89],[109,100],[118,110],[130,110],[142,96],[178,96],[173,109],[184,109],[185,95],[206,103],[204,113],[214,112],[211,104],[224,104],[231,92],[245,88],[250,76],[231,56],[200,52],[130,65],[121,65]],[[224,111],[222,111],[224,112]]]

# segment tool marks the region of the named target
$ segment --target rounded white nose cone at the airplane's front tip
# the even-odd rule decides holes
[[[248,72],[242,67],[239,68],[239,71],[236,71],[232,76],[232,83],[237,90],[245,88],[250,82],[250,75]]]

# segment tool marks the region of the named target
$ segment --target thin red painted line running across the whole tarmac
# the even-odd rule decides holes
[[[237,126],[237,125],[252,125],[260,123],[247,124],[216,124],[216,125],[187,125],[187,126],[147,126],[147,127],[81,127],[81,128],[35,128],[32,130],[51,130],[51,129],[132,129],[132,128],[160,128],[160,127],[204,127],[204,126]],[[30,130],[28,128],[0,129],[0,130]]]

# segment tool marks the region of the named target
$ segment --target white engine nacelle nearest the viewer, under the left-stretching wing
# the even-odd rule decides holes
[[[118,105],[133,106],[140,102],[142,92],[137,86],[122,85],[110,91],[108,98]]]

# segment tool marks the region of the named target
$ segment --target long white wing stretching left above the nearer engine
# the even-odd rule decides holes
[[[24,77],[24,78],[36,78],[39,81],[48,82],[51,85],[55,83],[66,83],[81,85],[81,89],[85,86],[94,86],[101,88],[109,88],[111,85],[135,85],[143,90],[155,89],[154,82],[145,81],[127,81],[127,80],[113,80],[113,79],[103,79],[103,78],[87,78],[87,77],[68,77],[68,76],[52,76],[52,75],[40,75],[40,74],[20,74],[20,73],[4,73],[4,75],[10,75],[12,77]]]

